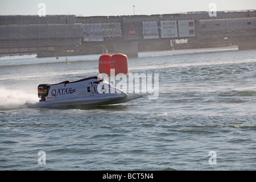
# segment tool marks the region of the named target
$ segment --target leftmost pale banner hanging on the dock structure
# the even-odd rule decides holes
[[[82,24],[84,30],[84,41],[104,41],[103,29],[101,23],[86,23]]]

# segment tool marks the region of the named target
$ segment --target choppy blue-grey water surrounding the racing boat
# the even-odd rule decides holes
[[[25,104],[38,102],[39,84],[98,75],[100,55],[68,57],[70,64],[65,57],[1,57],[0,169],[255,170],[255,55],[139,53],[129,69],[159,74],[157,100],[144,94],[81,109]]]

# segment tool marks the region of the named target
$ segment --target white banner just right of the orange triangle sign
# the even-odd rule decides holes
[[[142,22],[143,39],[158,39],[158,22]]]

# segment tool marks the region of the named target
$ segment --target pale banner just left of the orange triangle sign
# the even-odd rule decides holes
[[[106,39],[122,37],[121,23],[102,23],[102,28]]]

